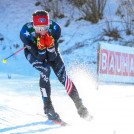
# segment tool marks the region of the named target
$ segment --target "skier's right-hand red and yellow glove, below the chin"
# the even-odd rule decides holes
[[[50,36],[48,33],[45,34],[44,40],[45,40],[45,46],[47,48],[52,48],[54,46],[54,38]]]

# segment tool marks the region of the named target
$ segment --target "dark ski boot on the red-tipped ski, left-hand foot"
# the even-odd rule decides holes
[[[61,121],[59,114],[55,112],[52,102],[48,97],[44,100],[44,111],[49,120]]]

